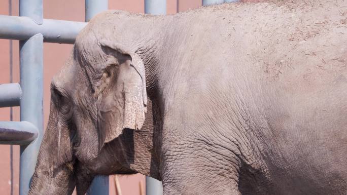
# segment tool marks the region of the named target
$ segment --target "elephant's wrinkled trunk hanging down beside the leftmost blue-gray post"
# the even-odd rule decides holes
[[[68,124],[51,101],[48,126],[40,147],[29,195],[72,194],[75,188],[74,157]]]

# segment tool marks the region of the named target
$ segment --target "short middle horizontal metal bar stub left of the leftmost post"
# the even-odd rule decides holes
[[[0,107],[19,106],[21,95],[18,83],[0,84]]]

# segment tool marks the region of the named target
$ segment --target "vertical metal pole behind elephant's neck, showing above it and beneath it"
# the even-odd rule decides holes
[[[152,15],[165,15],[166,0],[145,0],[145,13]],[[162,195],[163,186],[161,182],[154,178],[146,176],[146,194]]]

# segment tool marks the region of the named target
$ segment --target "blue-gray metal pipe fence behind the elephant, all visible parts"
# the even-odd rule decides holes
[[[202,0],[202,5],[237,0]],[[85,0],[85,20],[108,9],[108,0]],[[145,13],[166,14],[166,0],[145,0]],[[0,122],[0,144],[20,145],[19,194],[26,195],[43,137],[43,42],[74,44],[87,24],[43,18],[43,0],[19,0],[19,17],[0,15],[0,38],[19,40],[20,84],[0,85],[0,107],[20,106],[20,122]],[[97,176],[88,194],[109,194],[108,176]],[[146,194],[162,194],[161,183],[146,178]]]

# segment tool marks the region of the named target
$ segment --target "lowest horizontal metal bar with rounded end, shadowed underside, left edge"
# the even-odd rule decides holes
[[[0,144],[27,145],[38,137],[38,129],[29,122],[0,122]]]

